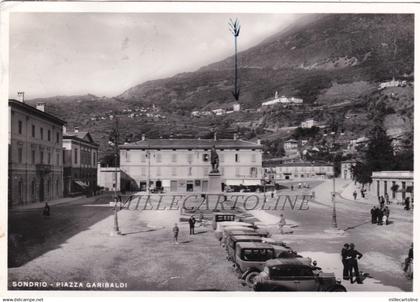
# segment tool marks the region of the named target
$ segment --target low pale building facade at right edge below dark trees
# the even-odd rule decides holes
[[[403,201],[413,197],[413,171],[378,171],[372,173],[371,190],[376,196],[388,194],[390,200]]]

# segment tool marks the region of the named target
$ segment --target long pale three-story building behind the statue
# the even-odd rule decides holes
[[[260,185],[262,146],[239,139],[143,139],[120,146],[124,190],[162,188],[165,192],[206,192],[210,151],[219,155],[222,186]],[[124,183],[124,184],[123,184]]]

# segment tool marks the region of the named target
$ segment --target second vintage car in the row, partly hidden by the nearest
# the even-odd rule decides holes
[[[300,257],[295,252],[282,246],[273,246],[262,242],[239,242],[236,244],[233,267],[239,278],[252,287],[255,278],[264,269],[265,262],[274,258]]]

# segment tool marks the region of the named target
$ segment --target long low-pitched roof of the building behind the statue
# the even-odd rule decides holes
[[[234,139],[146,139],[120,145],[120,149],[262,149],[262,145]]]

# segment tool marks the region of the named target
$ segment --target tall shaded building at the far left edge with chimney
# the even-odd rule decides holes
[[[63,196],[65,121],[44,109],[9,100],[9,206]]]

